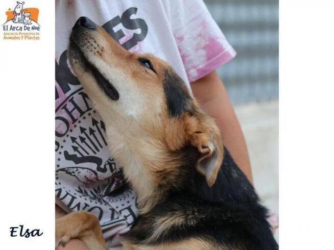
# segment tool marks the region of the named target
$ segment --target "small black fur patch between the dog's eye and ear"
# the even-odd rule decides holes
[[[192,97],[183,80],[171,68],[164,71],[163,90],[172,117],[180,116],[192,106]]]

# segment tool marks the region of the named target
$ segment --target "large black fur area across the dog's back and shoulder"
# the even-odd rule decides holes
[[[151,246],[200,238],[227,249],[238,246],[247,250],[277,250],[267,221],[268,211],[227,149],[224,148],[224,160],[212,187],[195,170],[192,158],[196,154],[189,148],[184,150],[183,176],[177,177],[180,185],[171,188],[165,200],[148,214],[139,216],[126,237],[135,244]],[[195,223],[185,222],[148,240],[155,233],[155,221],[176,212],[195,219]]]

